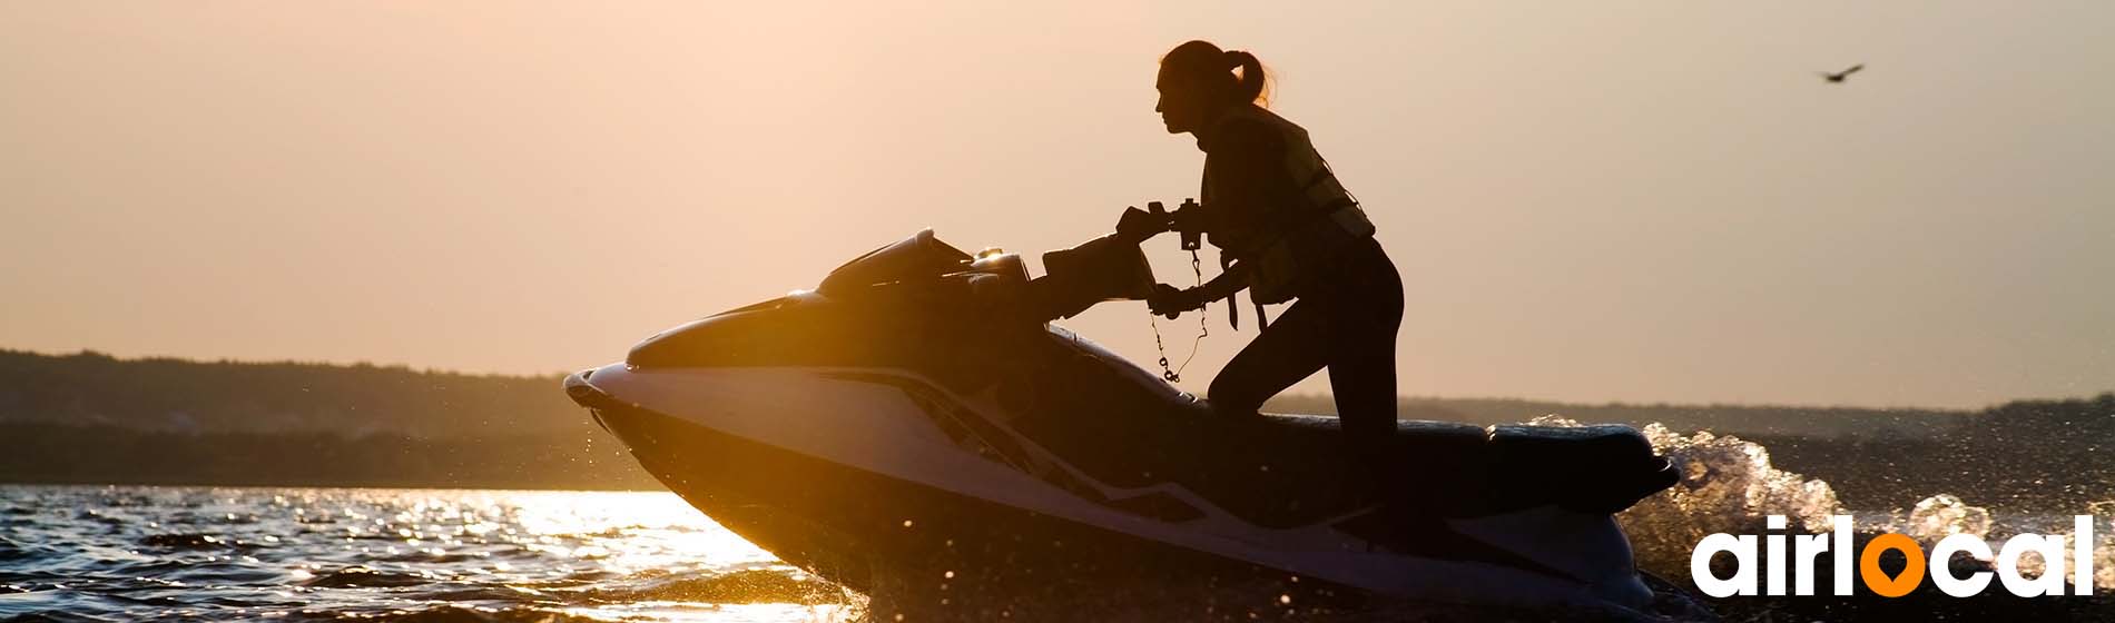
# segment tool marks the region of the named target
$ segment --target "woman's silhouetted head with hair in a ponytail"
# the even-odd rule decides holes
[[[1153,82],[1161,101],[1153,110],[1170,133],[1197,131],[1231,106],[1267,103],[1267,80],[1256,55],[1220,51],[1203,40],[1184,42],[1161,57],[1161,74]]]

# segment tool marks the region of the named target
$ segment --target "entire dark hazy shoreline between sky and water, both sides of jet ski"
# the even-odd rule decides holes
[[[1322,395],[1267,410],[1330,414]],[[2115,393],[1978,412],[1402,399],[1400,418],[1557,414],[1758,441],[1853,507],[1958,494],[2075,511],[2115,498]],[[0,482],[662,490],[556,378],[0,351]],[[2035,452],[2020,452],[2035,448]]]

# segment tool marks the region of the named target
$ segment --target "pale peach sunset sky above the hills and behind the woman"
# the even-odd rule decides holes
[[[4,2],[0,348],[546,374],[928,226],[1036,258],[1197,194],[1206,38],[1379,226],[1404,395],[2115,391],[2115,2],[1049,6]]]

